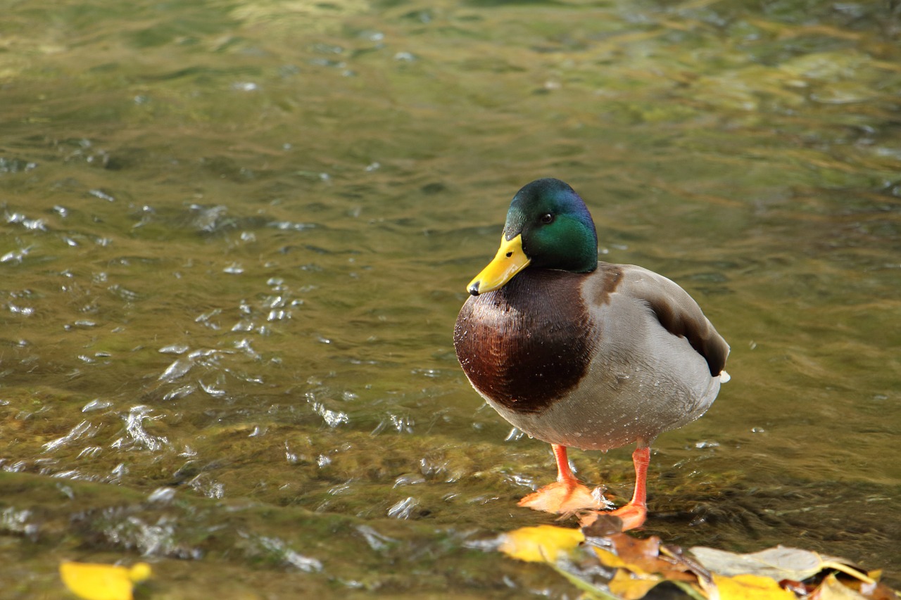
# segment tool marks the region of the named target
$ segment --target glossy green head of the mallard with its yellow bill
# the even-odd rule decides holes
[[[501,247],[469,282],[469,294],[502,287],[526,267],[575,273],[597,268],[595,222],[582,198],[560,179],[537,179],[514,195]]]

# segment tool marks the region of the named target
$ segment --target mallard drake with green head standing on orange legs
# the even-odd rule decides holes
[[[557,481],[519,505],[599,514],[605,499],[573,475],[567,449],[635,443],[632,500],[611,514],[623,530],[641,526],[651,442],[713,404],[729,345],[668,278],[598,262],[591,214],[560,179],[514,195],[500,249],[467,290],[453,336],[460,366],[557,462]]]

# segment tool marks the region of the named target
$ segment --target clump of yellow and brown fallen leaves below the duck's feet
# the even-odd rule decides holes
[[[592,600],[639,600],[661,583],[677,586],[694,600],[895,600],[895,593],[846,560],[777,546],[751,554],[696,547],[691,555],[660,538],[539,525],[498,537],[514,559],[544,562]],[[583,542],[585,542],[583,544]],[[578,547],[581,546],[579,549]],[[577,550],[578,549],[578,550]],[[587,562],[599,564],[586,568]],[[839,580],[841,571],[852,579]],[[598,573],[603,573],[598,578]],[[872,577],[870,577],[872,576]],[[822,578],[822,582],[820,581]],[[806,581],[805,581],[806,580]],[[819,583],[819,585],[817,585]]]

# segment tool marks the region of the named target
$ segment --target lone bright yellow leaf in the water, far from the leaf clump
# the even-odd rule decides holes
[[[128,568],[66,560],[59,565],[59,577],[85,600],[132,600],[132,587],[150,577],[150,565],[139,562]]]

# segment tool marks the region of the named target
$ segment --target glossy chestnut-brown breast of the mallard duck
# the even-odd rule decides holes
[[[585,277],[525,270],[500,289],[469,297],[454,348],[479,392],[516,412],[538,413],[578,385],[594,350],[580,294]]]

